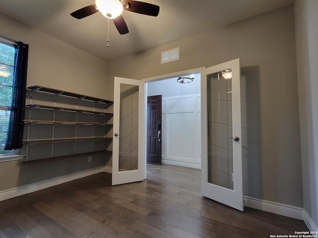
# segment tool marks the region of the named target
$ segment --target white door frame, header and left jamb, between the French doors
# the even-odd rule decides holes
[[[193,69],[188,69],[188,70],[183,70],[179,72],[174,72],[174,73],[168,73],[168,74],[163,74],[155,77],[150,77],[150,78],[144,78],[142,81],[145,83],[145,118],[144,121],[147,121],[147,97],[148,97],[148,83],[154,82],[154,81],[160,81],[160,80],[165,80],[168,78],[175,78],[175,77],[180,77],[180,76],[185,76],[193,73],[200,73],[202,75],[202,71],[204,71],[206,67],[199,67],[199,68],[193,68]],[[147,125],[145,125],[145,131],[147,131]],[[147,134],[145,134],[144,137],[144,144],[147,143]],[[147,179],[147,148],[145,146],[145,153],[144,153],[144,179]]]

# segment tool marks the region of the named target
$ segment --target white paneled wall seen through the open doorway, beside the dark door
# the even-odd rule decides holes
[[[191,75],[193,82],[177,82],[180,76]],[[201,169],[200,69],[146,81],[146,98],[162,95],[162,163]]]

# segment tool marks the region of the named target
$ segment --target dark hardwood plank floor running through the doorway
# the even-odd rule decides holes
[[[303,221],[200,194],[200,170],[148,165],[143,182],[111,186],[99,173],[0,202],[0,238],[269,238]]]

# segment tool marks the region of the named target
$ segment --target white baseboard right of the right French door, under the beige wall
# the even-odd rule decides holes
[[[248,196],[244,196],[243,200],[246,207],[251,207],[261,211],[303,220],[304,209],[301,207],[294,207],[282,203],[266,201]]]

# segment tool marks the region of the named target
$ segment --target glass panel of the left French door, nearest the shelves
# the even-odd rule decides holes
[[[139,86],[120,85],[119,172],[138,169]]]

